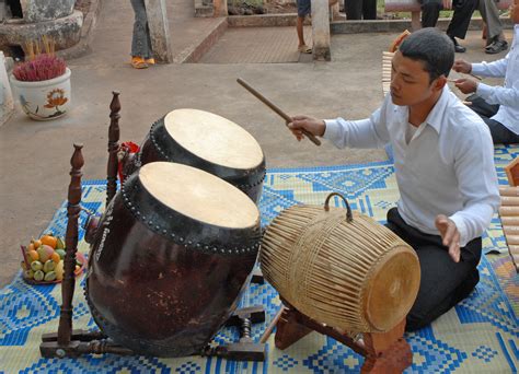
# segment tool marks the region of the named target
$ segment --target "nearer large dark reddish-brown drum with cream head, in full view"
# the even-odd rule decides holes
[[[101,329],[137,353],[200,353],[235,308],[261,239],[254,202],[194,167],[157,162],[108,204],[86,297]]]

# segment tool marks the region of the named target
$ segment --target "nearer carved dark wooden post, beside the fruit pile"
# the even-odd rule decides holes
[[[72,297],[76,288],[76,252],[78,250],[78,218],[81,211],[81,167],[84,164],[81,149],[83,145],[73,144],[74,152],[70,159],[70,185],[67,206],[67,233],[65,236],[65,276],[61,284],[61,313],[59,315],[58,343],[68,346],[72,334]]]

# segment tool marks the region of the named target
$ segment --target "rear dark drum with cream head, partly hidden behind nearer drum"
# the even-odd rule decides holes
[[[265,157],[257,141],[241,126],[212,113],[175,109],[150,129],[140,151],[126,168],[169,161],[200,168],[260,200]]]

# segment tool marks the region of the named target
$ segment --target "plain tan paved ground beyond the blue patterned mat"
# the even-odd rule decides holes
[[[192,0],[169,1],[175,54],[189,48],[196,43],[197,33],[215,22],[193,20],[192,3]],[[364,118],[382,98],[381,54],[396,34],[333,36],[332,62],[184,63],[137,71],[128,65],[132,24],[129,2],[109,0],[102,5],[93,52],[69,61],[72,110],[49,122],[33,121],[16,112],[0,127],[0,248],[3,250],[0,287],[19,269],[20,244],[37,236],[66,199],[73,142],[84,144],[83,177],[105,178],[112,90],[122,93],[122,141],[140,142],[155,119],[174,108],[192,107],[242,125],[257,139],[268,167],[385,160],[383,150],[337,151],[326,143],[321,148],[308,141],[298,143],[282,120],[246,93],[235,79],[245,79],[291,115]],[[480,35],[469,34],[464,43],[469,52],[463,57],[492,60],[504,56],[484,55]],[[510,37],[510,32],[507,35]],[[255,43],[267,40],[260,38]],[[238,56],[257,49],[250,40],[246,47],[230,52]]]

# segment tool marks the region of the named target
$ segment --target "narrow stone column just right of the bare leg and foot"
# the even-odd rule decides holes
[[[330,61],[330,7],[327,0],[312,0],[313,59]]]

